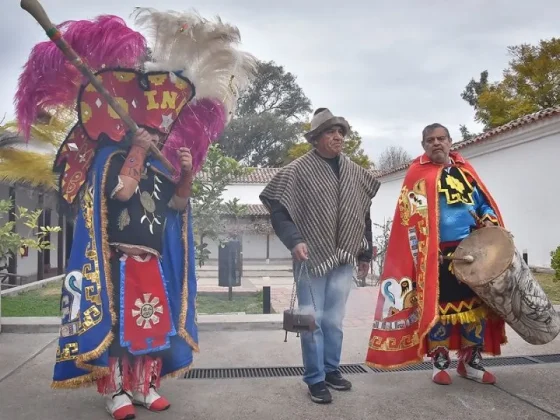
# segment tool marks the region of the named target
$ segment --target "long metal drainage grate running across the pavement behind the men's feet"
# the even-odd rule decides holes
[[[560,354],[547,354],[541,356],[513,356],[513,357],[488,357],[484,359],[485,366],[522,366],[539,365],[546,363],[560,363]],[[457,361],[451,362],[451,368],[457,367]],[[430,362],[423,362],[412,366],[403,366],[397,369],[379,369],[367,367],[363,364],[346,364],[340,366],[344,375],[355,375],[362,373],[384,373],[384,372],[413,372],[431,370]],[[302,366],[279,366],[279,367],[253,367],[253,368],[210,368],[192,369],[184,379],[236,379],[236,378],[285,378],[302,376]]]

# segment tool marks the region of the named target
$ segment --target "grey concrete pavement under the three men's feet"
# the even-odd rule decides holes
[[[511,331],[510,331],[511,333]],[[362,363],[368,330],[345,334],[343,363]],[[560,353],[560,339],[546,346],[519,346],[510,353]],[[299,340],[284,343],[278,331],[204,332],[197,368],[301,365]],[[103,420],[103,400],[95,388],[49,388],[56,334],[0,334],[0,419]],[[526,343],[525,343],[526,344]],[[492,368],[496,386],[457,378],[448,387],[433,384],[430,371],[349,375],[350,392],[333,392],[334,402],[309,401],[299,377],[166,380],[162,393],[172,406],[153,414],[137,409],[137,419],[158,420],[559,420],[560,364]]]

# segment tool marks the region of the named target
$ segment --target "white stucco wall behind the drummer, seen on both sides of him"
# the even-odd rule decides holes
[[[529,264],[550,267],[550,252],[560,245],[560,198],[556,193],[560,118],[544,120],[460,149],[494,196],[519,251]],[[380,179],[372,220],[392,218],[404,171]],[[375,235],[375,233],[374,233]]]

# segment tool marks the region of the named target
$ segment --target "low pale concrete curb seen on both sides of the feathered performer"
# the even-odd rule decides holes
[[[269,331],[282,330],[283,314],[199,315],[198,331]],[[4,317],[2,333],[58,333],[59,317]]]

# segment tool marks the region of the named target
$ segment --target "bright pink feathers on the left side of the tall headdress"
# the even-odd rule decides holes
[[[57,26],[63,38],[95,72],[104,67],[136,68],[146,56],[146,39],[117,16],[67,21]],[[16,117],[22,134],[44,112],[75,109],[86,80],[51,41],[37,44],[19,77]]]

